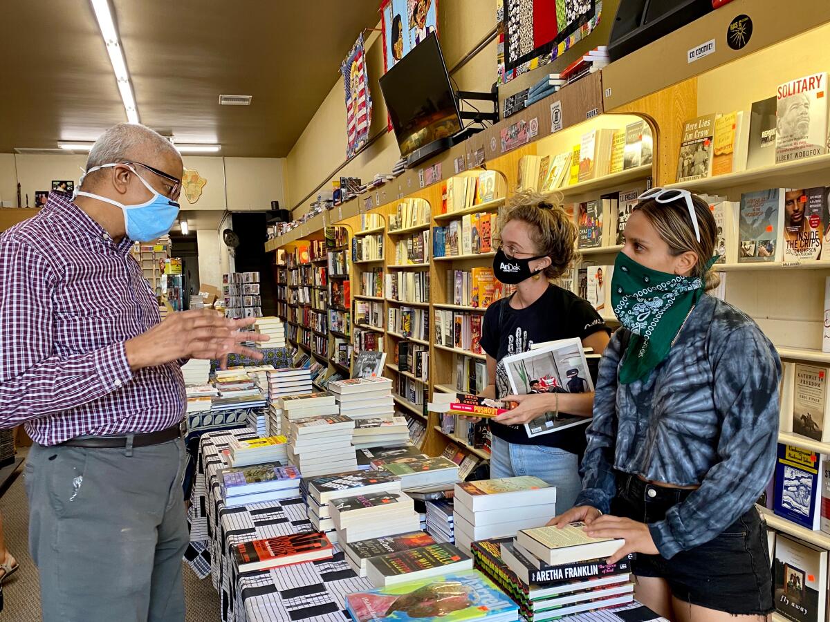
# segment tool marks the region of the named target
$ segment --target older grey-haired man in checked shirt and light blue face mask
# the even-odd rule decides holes
[[[164,137],[116,125],[76,197],[51,192],[0,236],[0,428],[25,424],[35,441],[25,474],[45,622],[184,620],[180,366],[259,355],[239,333],[253,319],[160,322],[129,255],[173,226],[182,169]]]

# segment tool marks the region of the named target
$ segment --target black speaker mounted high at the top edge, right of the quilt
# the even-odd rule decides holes
[[[712,0],[621,0],[608,56],[616,61],[711,11]]]

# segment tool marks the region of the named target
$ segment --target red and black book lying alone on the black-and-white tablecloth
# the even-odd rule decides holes
[[[334,547],[322,532],[292,533],[288,536],[242,542],[233,547],[233,558],[240,572],[330,559],[332,556]]]

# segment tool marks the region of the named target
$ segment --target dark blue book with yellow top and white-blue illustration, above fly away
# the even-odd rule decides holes
[[[774,513],[808,529],[820,528],[821,476],[818,454],[779,443],[775,462]]]

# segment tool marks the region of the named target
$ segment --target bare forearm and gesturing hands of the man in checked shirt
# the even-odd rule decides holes
[[[180,358],[220,359],[228,354],[262,358],[261,352],[240,345],[243,341],[268,341],[259,333],[240,333],[256,318],[227,319],[211,309],[172,313],[164,322],[125,343],[127,362],[135,371],[156,367]]]

